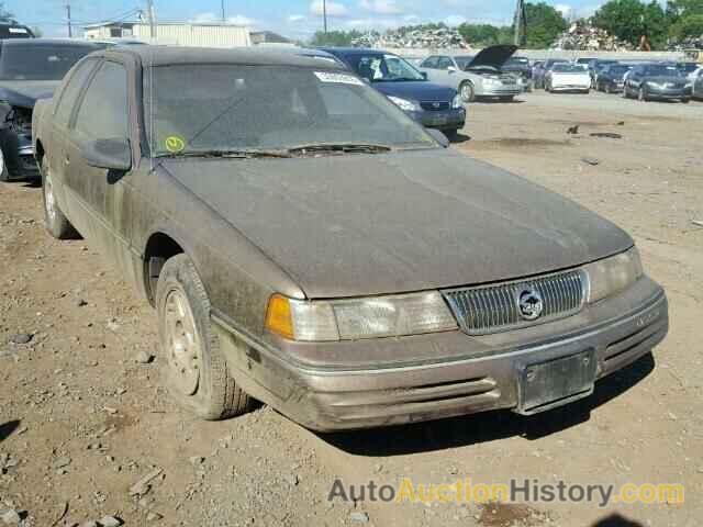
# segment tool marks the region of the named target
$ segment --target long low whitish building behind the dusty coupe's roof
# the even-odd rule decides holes
[[[247,26],[224,23],[157,23],[152,27],[145,22],[109,22],[87,25],[83,36],[88,40],[130,38],[171,46],[238,47],[250,46]]]

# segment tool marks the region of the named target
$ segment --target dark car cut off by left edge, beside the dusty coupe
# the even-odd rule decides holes
[[[0,41],[0,181],[38,178],[32,110],[79,59],[104,46],[53,38]]]

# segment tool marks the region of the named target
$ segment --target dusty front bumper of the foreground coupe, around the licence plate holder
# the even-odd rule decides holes
[[[649,352],[665,338],[669,325],[663,290],[647,278],[617,298],[542,326],[482,337],[449,332],[328,345],[328,349],[343,347],[334,360],[348,358],[355,348],[364,356],[366,347],[388,359],[411,357],[424,348],[432,361],[409,358],[398,363],[367,361],[359,367],[311,363],[320,345],[289,343],[284,349],[267,349],[221,318],[213,319],[242,388],[293,421],[322,431],[496,408],[518,411],[518,379],[526,367],[592,350],[595,377],[601,379]]]

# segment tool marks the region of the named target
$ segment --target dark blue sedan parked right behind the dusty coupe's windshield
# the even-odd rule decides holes
[[[428,128],[455,136],[466,124],[466,109],[456,90],[429,82],[404,58],[379,49],[322,47]]]

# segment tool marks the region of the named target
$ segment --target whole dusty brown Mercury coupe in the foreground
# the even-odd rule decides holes
[[[113,48],[34,113],[48,232],[155,307],[164,380],[200,417],[250,397],[319,430],[534,414],[665,337],[624,231],[437,136],[275,51]]]

